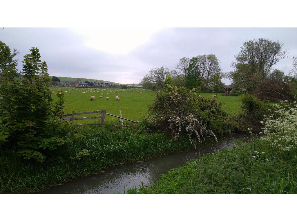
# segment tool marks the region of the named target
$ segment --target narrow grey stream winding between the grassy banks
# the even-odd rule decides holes
[[[213,144],[216,150],[223,147],[231,148],[236,140],[246,140],[246,134],[235,134]],[[201,147],[202,153],[211,152],[211,144]],[[114,194],[123,193],[127,187],[145,185],[157,181],[162,174],[194,159],[193,151],[173,153],[146,161],[129,163],[94,174],[69,181],[63,185],[51,187],[36,194]]]

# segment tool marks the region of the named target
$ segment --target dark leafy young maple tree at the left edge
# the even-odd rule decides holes
[[[17,53],[10,54],[10,49],[0,44],[0,149],[41,162],[69,142],[69,124],[60,119],[62,95],[53,104],[48,66],[41,62],[39,49],[29,52],[24,56],[23,75],[19,75],[14,60]]]

